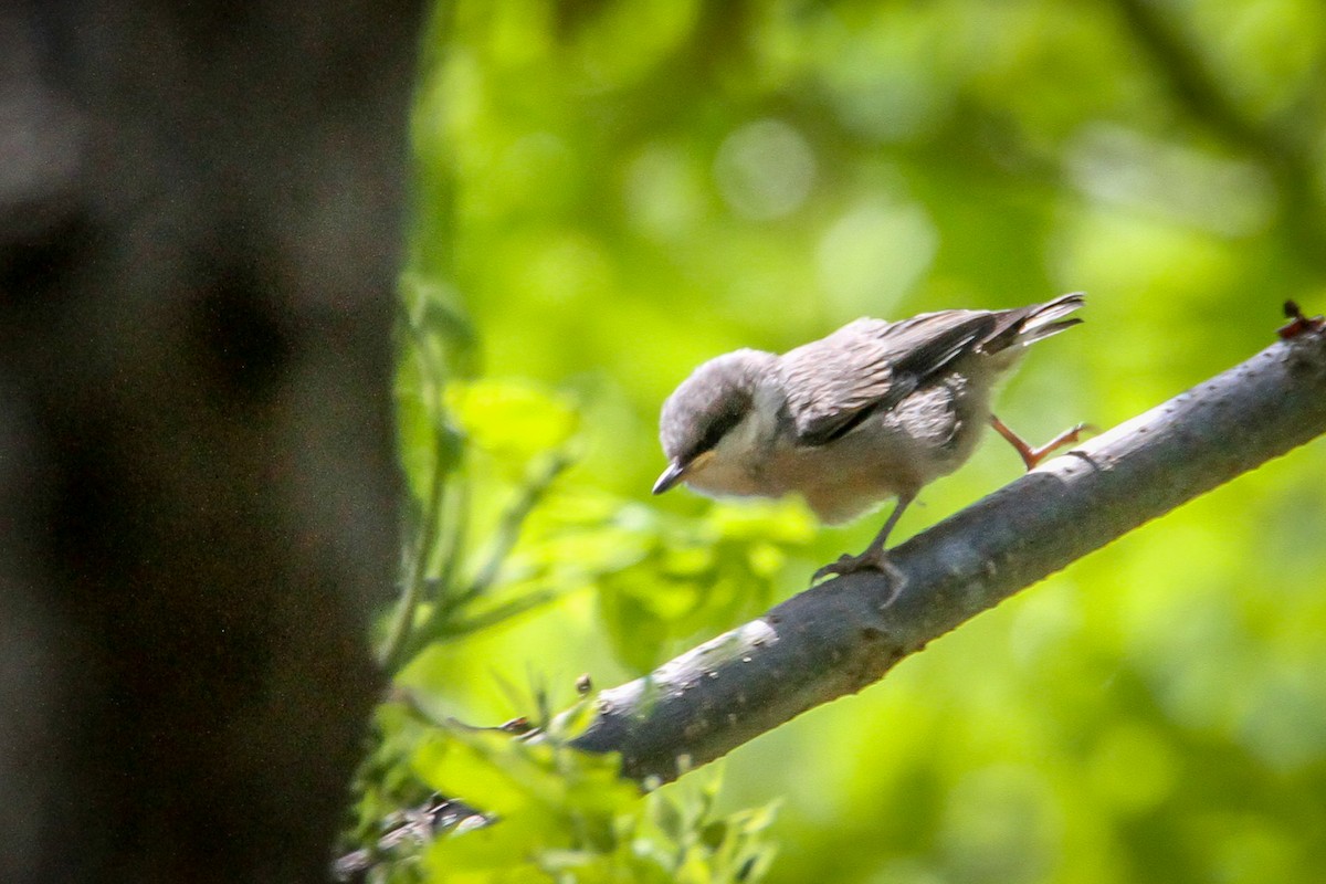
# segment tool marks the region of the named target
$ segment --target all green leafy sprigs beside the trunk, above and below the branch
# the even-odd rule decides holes
[[[582,444],[577,404],[528,380],[461,379],[473,339],[434,298],[407,286],[396,392],[410,506],[402,599],[381,655],[398,693],[375,718],[347,848],[378,852],[370,880],[760,880],[770,810],[717,812],[712,777],[642,798],[618,758],[564,745],[587,698],[554,721],[542,691],[526,697],[487,673],[541,726],[460,724],[448,651],[467,655],[477,637],[578,594],[597,600],[622,661],[646,671],[666,645],[766,606],[785,550],[812,534],[805,512],[671,517],[562,482]],[[432,790],[476,812],[420,836],[408,808]],[[420,860],[422,839],[434,846]]]

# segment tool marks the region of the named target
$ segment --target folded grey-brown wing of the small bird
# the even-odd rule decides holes
[[[924,313],[902,322],[857,319],[780,358],[797,441],[839,439],[971,353],[991,334],[985,310]]]

